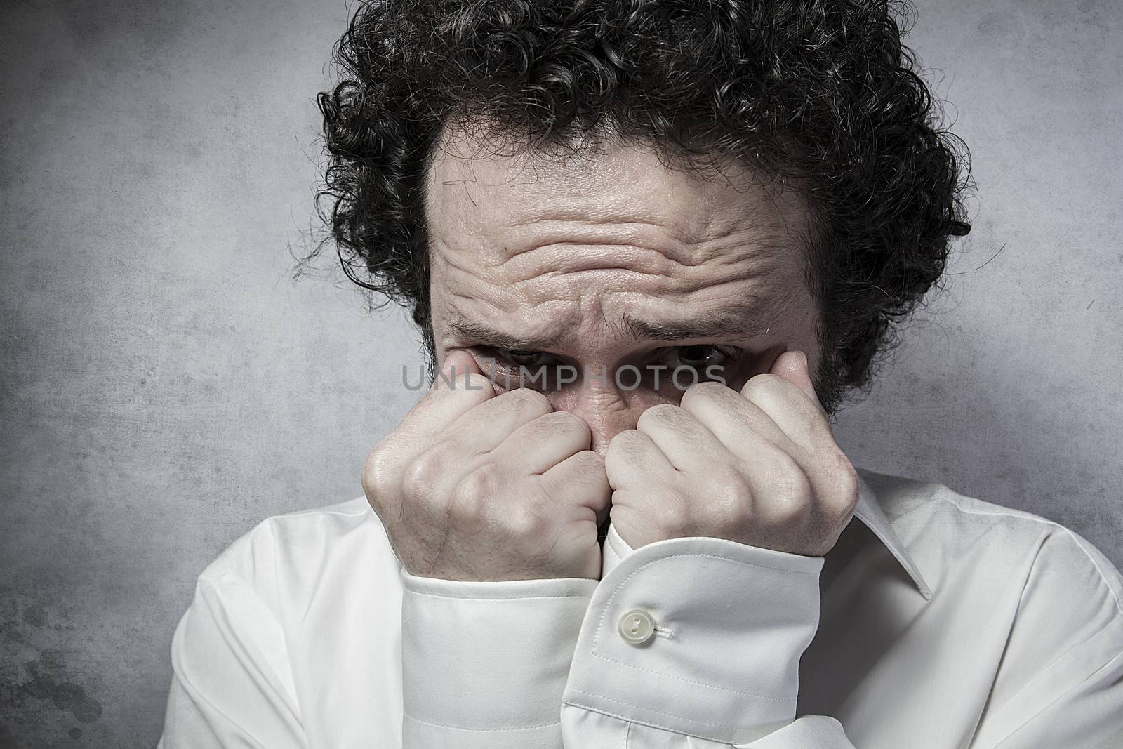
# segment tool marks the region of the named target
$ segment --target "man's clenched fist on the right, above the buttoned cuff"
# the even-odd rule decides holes
[[[632,548],[709,536],[823,556],[858,506],[858,475],[834,442],[801,351],[738,393],[688,387],[609,444],[612,524]]]

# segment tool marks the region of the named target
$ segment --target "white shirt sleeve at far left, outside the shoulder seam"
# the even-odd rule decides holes
[[[157,749],[307,749],[284,633],[219,557],[172,638],[172,686]]]

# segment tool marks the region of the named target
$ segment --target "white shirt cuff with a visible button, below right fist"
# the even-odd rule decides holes
[[[707,537],[631,549],[611,527],[604,549],[565,704],[729,743],[794,720],[823,557]]]

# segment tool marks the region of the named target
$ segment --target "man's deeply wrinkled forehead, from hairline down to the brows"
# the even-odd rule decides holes
[[[446,137],[426,209],[438,318],[611,322],[622,310],[665,316],[668,303],[750,298],[776,308],[806,293],[807,213],[795,193],[747,168],[716,179],[668,168],[619,139],[558,157]]]

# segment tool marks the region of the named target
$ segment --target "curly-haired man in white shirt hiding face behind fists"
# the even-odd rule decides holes
[[[163,747],[1123,746],[1103,555],[831,432],[968,229],[886,3],[391,0],[339,60],[334,237],[439,374],[200,576]]]

